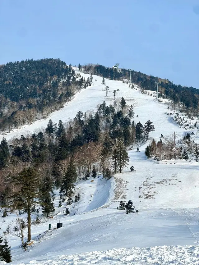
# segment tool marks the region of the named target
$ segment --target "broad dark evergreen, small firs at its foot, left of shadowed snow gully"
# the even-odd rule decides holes
[[[66,174],[62,180],[62,188],[61,192],[64,193],[65,196],[68,194],[72,194],[75,185],[73,184],[77,179],[76,167],[73,164],[72,160],[70,164],[67,166]]]

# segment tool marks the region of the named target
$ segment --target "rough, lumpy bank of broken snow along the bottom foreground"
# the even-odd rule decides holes
[[[111,249],[75,255],[61,255],[53,259],[36,261],[33,265],[81,265],[81,264],[199,264],[199,246],[162,246],[151,248]],[[25,263],[20,263],[25,265]]]

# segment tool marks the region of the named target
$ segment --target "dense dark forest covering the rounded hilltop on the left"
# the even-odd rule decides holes
[[[0,130],[31,124],[60,109],[91,85],[60,59],[25,60],[0,66]]]

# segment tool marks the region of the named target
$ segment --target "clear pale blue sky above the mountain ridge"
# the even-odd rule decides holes
[[[198,0],[0,0],[0,64],[60,58],[199,88]]]

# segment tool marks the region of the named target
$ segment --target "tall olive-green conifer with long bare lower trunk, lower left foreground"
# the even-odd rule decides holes
[[[21,187],[21,190],[13,194],[13,203],[18,209],[27,209],[28,220],[28,242],[31,240],[31,217],[30,210],[39,199],[38,185],[39,178],[34,168],[24,168],[13,180],[14,184]]]

